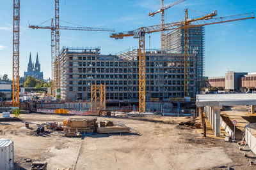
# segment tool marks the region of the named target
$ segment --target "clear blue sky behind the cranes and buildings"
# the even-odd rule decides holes
[[[165,0],[164,4],[174,0]],[[148,17],[159,8],[160,0],[60,0],[60,20],[87,27],[129,31],[160,23],[160,15]],[[0,0],[0,74],[12,76],[12,12],[13,1]],[[51,32],[32,30],[54,17],[54,0],[20,0],[20,76],[27,69],[29,52],[35,62],[39,55],[44,78],[51,76]],[[166,23],[182,20],[184,9],[189,17],[218,10],[218,17],[256,12],[255,0],[187,0],[166,10]],[[50,22],[44,25],[51,25]],[[60,22],[60,25],[71,25]],[[75,25],[71,25],[75,26]],[[148,47],[148,36],[146,46]],[[160,33],[151,36],[151,47],[160,48]],[[101,53],[120,52],[138,46],[138,39],[111,39],[109,32],[60,31],[61,46],[100,46]],[[256,72],[256,20],[243,20],[205,27],[205,76],[223,76],[230,71]]]

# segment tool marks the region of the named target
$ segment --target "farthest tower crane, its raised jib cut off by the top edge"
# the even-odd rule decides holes
[[[164,25],[164,11],[167,10],[168,8],[171,8],[172,6],[175,6],[179,3],[182,3],[186,0],[178,0],[178,1],[175,1],[174,3],[172,4],[169,4],[168,6],[164,6],[164,0],[161,0],[161,7],[159,10],[155,11],[155,12],[152,12],[152,13],[148,13],[148,16],[150,17],[154,17],[154,15],[156,15],[157,13],[161,13],[161,25],[163,27]],[[164,50],[166,48],[165,46],[165,33],[164,31],[161,31],[161,49]]]

